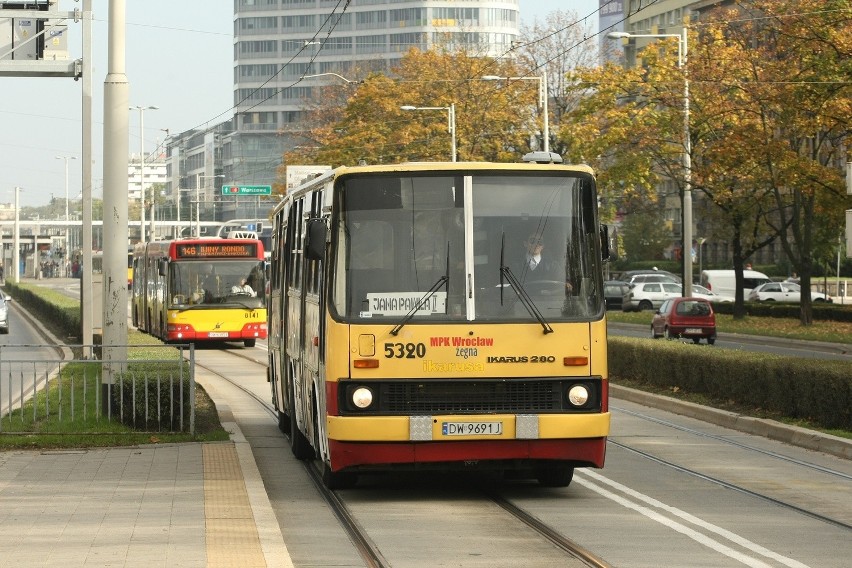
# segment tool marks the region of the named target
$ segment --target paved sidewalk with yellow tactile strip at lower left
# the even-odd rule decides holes
[[[292,566],[251,447],[220,418],[230,442],[0,452],[0,566]]]

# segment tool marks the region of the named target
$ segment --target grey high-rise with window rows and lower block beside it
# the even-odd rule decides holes
[[[389,73],[411,48],[502,55],[519,25],[519,0],[234,0],[234,116],[169,137],[167,194],[182,219],[194,201],[206,220],[266,217],[275,201],[217,188],[272,185],[319,87]]]

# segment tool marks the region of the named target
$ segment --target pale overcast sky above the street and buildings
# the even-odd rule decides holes
[[[101,196],[103,81],[107,68],[108,0],[94,0],[94,187]],[[521,20],[532,24],[554,10],[593,13],[598,0],[520,0]],[[60,0],[62,10],[81,2]],[[231,0],[126,0],[126,72],[130,105],[158,106],[145,111],[145,151],[173,133],[230,118],[233,99],[233,2]],[[597,18],[592,19],[597,22]],[[80,56],[79,24],[69,26],[72,57]],[[81,183],[81,83],[67,78],[0,77],[0,203],[45,205],[69,197]],[[139,152],[139,113],[130,113],[130,151]]]

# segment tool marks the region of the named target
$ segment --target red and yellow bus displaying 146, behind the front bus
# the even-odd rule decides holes
[[[134,250],[133,325],[166,342],[266,339],[266,274],[257,239],[182,239]]]

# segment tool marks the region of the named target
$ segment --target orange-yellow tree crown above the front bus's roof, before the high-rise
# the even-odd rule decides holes
[[[285,154],[284,164],[449,161],[448,111],[407,111],[404,105],[455,105],[459,160],[517,160],[529,151],[535,131],[536,93],[482,77],[518,72],[509,61],[463,51],[412,50],[390,75],[324,88],[330,94],[310,111],[305,144]]]

